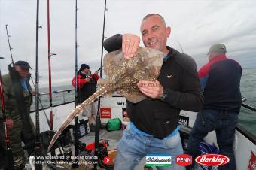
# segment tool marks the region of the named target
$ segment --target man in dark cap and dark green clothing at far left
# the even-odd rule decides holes
[[[29,115],[32,105],[32,89],[29,85],[30,65],[25,61],[9,65],[9,73],[2,76],[6,126],[9,129],[11,150],[15,161],[24,162],[24,149],[31,154],[35,148],[35,127]],[[3,135],[2,109],[0,114],[0,133]],[[5,138],[0,138],[1,146],[5,146]]]

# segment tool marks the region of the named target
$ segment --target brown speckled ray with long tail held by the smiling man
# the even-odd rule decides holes
[[[139,80],[157,80],[162,64],[163,52],[151,48],[139,47],[133,58],[130,59],[123,58],[122,50],[107,53],[103,61],[103,68],[107,78],[99,79],[96,93],[93,93],[92,96],[69,114],[50,141],[48,150],[50,150],[59,135],[75,116],[100,96],[117,92],[133,103],[147,99],[148,97],[139,91],[137,83]]]

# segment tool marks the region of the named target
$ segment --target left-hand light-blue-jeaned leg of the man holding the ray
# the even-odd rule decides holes
[[[114,170],[133,170],[144,156],[145,143],[143,136],[137,135],[133,129],[127,126],[117,147]]]

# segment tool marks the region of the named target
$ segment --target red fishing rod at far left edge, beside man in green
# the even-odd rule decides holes
[[[4,59],[4,57],[0,57],[0,59]],[[6,126],[6,115],[5,115],[5,99],[4,99],[4,90],[3,90],[3,83],[2,83],[2,74],[0,69],[0,95],[1,95],[1,105],[2,105],[2,113],[3,113],[3,123],[4,123],[4,131],[5,131],[5,144],[6,144],[6,157],[8,162],[8,169],[14,169],[14,158],[11,152],[11,144],[10,144],[10,136],[8,132],[8,128]]]

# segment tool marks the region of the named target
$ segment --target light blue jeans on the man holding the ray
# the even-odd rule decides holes
[[[117,147],[117,157],[114,159],[114,170],[132,170],[147,153],[170,153],[171,167],[157,167],[163,170],[184,170],[183,166],[175,164],[175,156],[183,154],[179,133],[162,140],[139,135],[127,126]],[[145,162],[146,163],[146,162]]]

